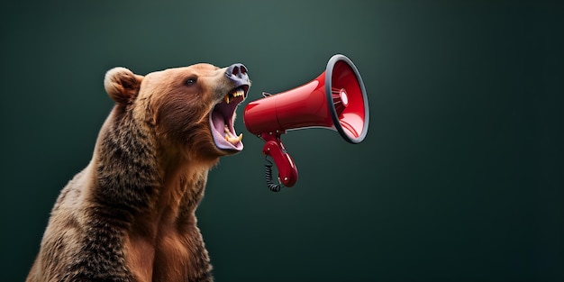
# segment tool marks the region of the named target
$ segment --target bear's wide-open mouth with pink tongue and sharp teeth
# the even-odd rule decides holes
[[[235,109],[245,100],[248,91],[248,85],[238,86],[223,96],[222,101],[214,106],[210,114],[210,127],[217,148],[236,151],[243,149],[241,142],[243,134],[237,135],[233,123],[235,122]]]

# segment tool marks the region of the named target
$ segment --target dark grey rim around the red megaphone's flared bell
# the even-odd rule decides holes
[[[335,105],[333,105],[332,103],[332,93],[331,93],[332,72],[333,72],[333,68],[335,67],[335,64],[339,61],[344,61],[352,69],[354,75],[357,77],[357,81],[359,82],[360,91],[362,92],[362,100],[364,102],[364,124],[362,126],[362,132],[360,132],[359,137],[357,138],[353,138],[342,129],[341,123],[339,122],[339,116],[337,116],[337,110],[335,109]],[[327,62],[327,68],[325,68],[325,95],[327,96],[326,98],[327,107],[330,109],[332,122],[337,132],[341,134],[341,137],[345,141],[348,141],[353,144],[357,144],[363,141],[368,133],[368,122],[370,120],[369,112],[368,112],[368,96],[366,94],[366,88],[364,87],[364,83],[362,82],[362,77],[360,77],[359,69],[357,69],[354,63],[352,63],[352,60],[350,60],[347,56],[342,54],[336,54],[333,55],[331,59],[329,59],[329,61]]]

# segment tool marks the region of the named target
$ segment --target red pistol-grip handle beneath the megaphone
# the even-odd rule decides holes
[[[280,140],[280,134],[280,132],[262,133],[260,137],[266,141],[264,147],[262,147],[262,152],[274,159],[274,163],[276,163],[278,168],[280,183],[291,187],[297,181],[297,168],[294,160],[288,155],[284,144]]]

